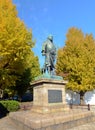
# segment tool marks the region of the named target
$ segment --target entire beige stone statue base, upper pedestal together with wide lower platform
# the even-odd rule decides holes
[[[68,130],[95,121],[87,109],[70,110],[65,101],[65,81],[41,79],[34,87],[33,107],[29,111],[11,112],[10,119],[18,130]],[[68,111],[69,109],[69,111]]]

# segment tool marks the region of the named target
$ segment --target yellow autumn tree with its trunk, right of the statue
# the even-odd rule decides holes
[[[81,104],[85,92],[95,89],[95,40],[92,34],[84,35],[70,28],[66,44],[58,50],[57,74],[68,80],[67,88],[80,94]]]

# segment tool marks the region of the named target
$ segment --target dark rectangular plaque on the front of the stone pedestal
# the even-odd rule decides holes
[[[62,102],[62,91],[48,90],[48,103],[59,103],[59,102]]]

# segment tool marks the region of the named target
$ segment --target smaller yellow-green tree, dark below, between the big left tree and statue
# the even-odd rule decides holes
[[[30,82],[35,79],[40,74],[40,65],[37,56],[34,53],[30,53],[27,56],[27,69],[20,75],[20,79],[16,81],[16,86],[14,87],[15,92],[21,97],[27,89],[30,87]]]

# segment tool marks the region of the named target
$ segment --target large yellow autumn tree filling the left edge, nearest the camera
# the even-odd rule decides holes
[[[31,50],[33,46],[32,31],[27,29],[24,22],[17,16],[16,7],[13,5],[12,0],[0,0],[1,89],[15,86],[16,81],[30,67],[33,68],[34,72],[35,66],[30,65],[33,63],[29,63],[29,61],[37,63],[39,68],[38,59]],[[31,60],[28,60],[28,58]],[[38,69],[37,71],[39,73]]]

